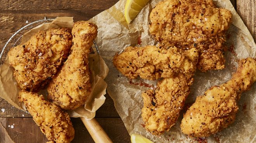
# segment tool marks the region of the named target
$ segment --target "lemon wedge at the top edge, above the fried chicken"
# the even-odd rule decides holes
[[[149,2],[149,0],[127,0],[125,5],[125,20],[128,24],[131,23],[140,10]]]

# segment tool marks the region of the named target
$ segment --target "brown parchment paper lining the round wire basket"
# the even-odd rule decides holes
[[[30,37],[39,30],[47,30],[50,28],[67,27],[72,29],[74,25],[73,17],[57,17],[53,22],[44,23],[26,32],[22,36],[21,43],[26,42]],[[81,106],[73,111],[68,111],[71,117],[84,117],[86,119],[92,119],[95,117],[95,111],[105,102],[104,95],[106,94],[107,83],[104,81],[109,71],[104,60],[98,54],[89,55],[89,67],[91,69],[92,93],[88,100],[85,102],[85,106]],[[14,107],[26,110],[23,103],[18,101],[19,89],[17,82],[13,76],[13,69],[9,66],[8,57],[6,61],[0,67],[0,96],[7,100]],[[47,95],[47,90],[41,90],[40,94]]]

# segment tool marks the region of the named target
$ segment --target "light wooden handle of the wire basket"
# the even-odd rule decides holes
[[[92,136],[95,143],[113,143],[100,124],[96,121],[96,119],[86,120],[81,117],[83,124],[85,124],[86,129]]]

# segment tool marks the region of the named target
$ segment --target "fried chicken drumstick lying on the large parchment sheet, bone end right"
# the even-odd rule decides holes
[[[237,102],[241,93],[256,81],[256,58],[242,59],[232,79],[220,86],[213,86],[197,97],[180,125],[189,136],[209,136],[227,128],[235,121]]]

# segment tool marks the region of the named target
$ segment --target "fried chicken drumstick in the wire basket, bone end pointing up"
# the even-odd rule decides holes
[[[75,22],[72,35],[71,54],[47,88],[50,101],[65,110],[83,105],[91,93],[88,54],[97,37],[97,25]]]

